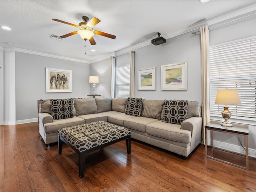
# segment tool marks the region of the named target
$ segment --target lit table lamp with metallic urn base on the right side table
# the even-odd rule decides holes
[[[216,95],[215,104],[224,104],[224,111],[221,112],[224,121],[220,124],[222,126],[232,127],[233,123],[229,122],[228,119],[231,117],[231,113],[228,110],[227,105],[238,105],[241,104],[238,91],[236,89],[223,89],[218,90]]]

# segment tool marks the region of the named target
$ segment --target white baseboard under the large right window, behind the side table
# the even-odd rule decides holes
[[[234,145],[234,144],[230,144],[230,143],[213,140],[213,146],[224,149],[224,150],[236,152],[236,153],[246,154],[246,152],[242,146],[238,146],[238,145]],[[256,158],[256,150],[255,149],[249,148],[248,152],[249,152],[249,156]]]

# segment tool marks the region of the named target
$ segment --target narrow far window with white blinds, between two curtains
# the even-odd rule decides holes
[[[116,66],[116,98],[130,96],[130,65]]]

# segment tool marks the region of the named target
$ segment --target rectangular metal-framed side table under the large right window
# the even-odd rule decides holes
[[[246,170],[249,170],[249,157],[248,157],[248,135],[249,128],[248,125],[243,124],[234,124],[233,127],[221,126],[218,121],[210,121],[205,126],[205,156],[207,158],[212,158],[214,160],[218,160],[220,162],[224,162],[227,164],[231,164],[233,166],[237,166]],[[207,130],[210,130],[210,146],[207,146]],[[235,152],[230,152],[225,149],[220,149],[218,147],[213,146],[212,135],[213,132],[222,132],[228,134],[234,134],[243,136],[246,140],[246,155],[245,155],[245,164],[240,162],[242,158],[244,159],[244,154],[238,154]],[[232,157],[232,158],[230,158]]]

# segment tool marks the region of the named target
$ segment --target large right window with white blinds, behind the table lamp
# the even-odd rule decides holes
[[[232,116],[256,118],[256,38],[211,46],[209,50],[210,110],[220,114],[223,105],[214,104],[218,89],[237,89],[241,105],[229,106]]]

